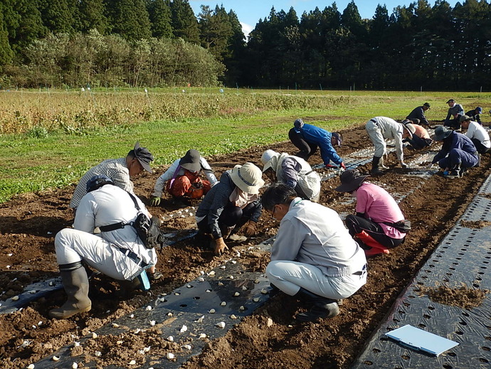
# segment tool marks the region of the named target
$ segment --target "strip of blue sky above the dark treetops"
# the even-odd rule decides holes
[[[326,6],[331,6],[332,3],[336,3],[337,9],[342,13],[346,6],[351,0],[218,0],[218,1],[204,1],[204,0],[189,0],[189,4],[194,10],[196,16],[201,11],[201,5],[208,5],[211,9],[215,6],[223,5],[226,11],[233,10],[237,16],[238,20],[242,24],[242,29],[247,36],[250,31],[253,30],[255,24],[258,23],[259,19],[264,19],[270,14],[271,8],[274,6],[275,11],[288,11],[290,7],[297,12],[297,16],[300,19],[302,13],[314,10],[315,7],[319,7],[320,10],[324,9]],[[379,4],[386,4],[389,15],[392,13],[396,6],[408,6],[409,4],[417,2],[417,0],[354,0],[354,4],[357,4],[359,14],[361,18],[371,19],[375,14],[376,6]],[[450,6],[455,6],[457,1],[447,0]],[[463,2],[463,1],[462,1]],[[435,4],[434,0],[428,0],[428,3],[433,6]]]

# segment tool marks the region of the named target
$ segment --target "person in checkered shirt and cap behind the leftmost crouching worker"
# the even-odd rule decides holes
[[[70,201],[70,208],[77,209],[80,200],[87,193],[86,185],[88,180],[95,175],[106,175],[110,177],[115,186],[134,194],[133,182],[130,180],[130,177],[139,175],[143,170],[152,173],[150,162],[153,160],[154,156],[149,152],[147,147],[140,147],[139,142],[137,142],[133,150],[130,150],[126,157],[104,160],[100,164],[95,165],[95,167],[91,167],[80,178],[80,181],[78,181],[78,185]]]

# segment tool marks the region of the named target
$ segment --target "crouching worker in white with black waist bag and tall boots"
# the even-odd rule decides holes
[[[74,229],[65,228],[56,234],[56,261],[68,299],[49,312],[51,318],[65,319],[90,311],[89,282],[82,261],[119,281],[133,281],[157,264],[155,249],[147,249],[136,229],[129,225],[138,214],[134,201],[141,212],[149,215],[144,204],[136,196],[132,199],[129,192],[116,187],[105,175],[89,180],[87,190],[78,205]],[[102,231],[115,224],[120,227]],[[93,234],[96,227],[101,229],[100,234]]]

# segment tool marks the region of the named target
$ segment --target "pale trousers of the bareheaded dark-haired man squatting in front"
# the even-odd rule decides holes
[[[324,276],[317,266],[297,261],[271,261],[266,267],[266,274],[272,284],[290,296],[302,287],[316,295],[337,300],[352,296],[366,284],[366,271],[361,276]]]

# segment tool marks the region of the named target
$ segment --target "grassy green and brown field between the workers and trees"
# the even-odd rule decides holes
[[[142,88],[0,96],[0,202],[75,182],[88,167],[125,156],[137,140],[163,165],[189,148],[206,156],[287,140],[296,118],[335,130],[376,115],[402,119],[426,101],[431,120],[445,118],[448,98],[466,110],[491,108],[483,104],[491,93]]]

